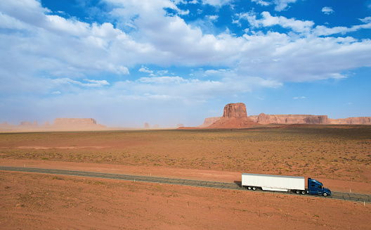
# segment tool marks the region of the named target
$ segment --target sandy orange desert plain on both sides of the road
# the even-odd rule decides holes
[[[311,177],[371,194],[371,126],[1,133],[0,165],[240,181]],[[0,229],[371,229],[371,204],[0,171]]]

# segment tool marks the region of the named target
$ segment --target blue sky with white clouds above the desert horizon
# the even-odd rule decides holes
[[[371,116],[371,0],[0,1],[0,123]]]

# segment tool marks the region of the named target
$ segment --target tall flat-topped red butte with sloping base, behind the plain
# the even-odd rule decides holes
[[[252,127],[257,123],[247,117],[244,103],[230,103],[224,107],[223,117],[216,120],[209,127],[210,129],[241,129]]]

